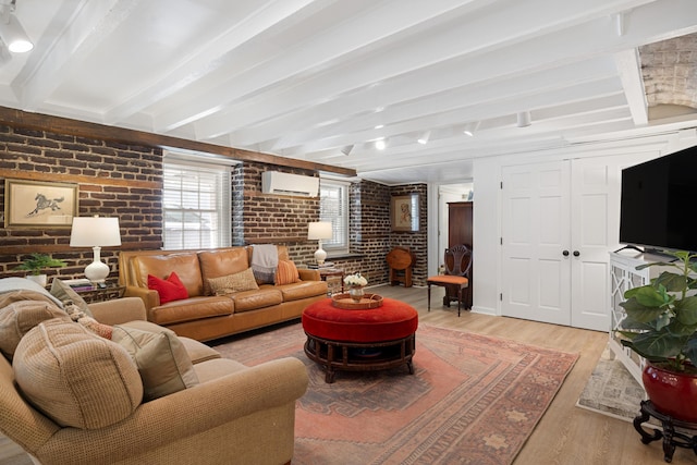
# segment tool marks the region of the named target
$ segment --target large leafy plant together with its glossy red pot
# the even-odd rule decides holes
[[[669,255],[674,260],[637,267],[672,270],[624,293],[622,344],[646,358],[641,379],[655,407],[697,423],[697,254]]]

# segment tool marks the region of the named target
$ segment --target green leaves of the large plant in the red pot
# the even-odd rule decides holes
[[[675,260],[637,267],[670,267],[676,272],[663,271],[650,284],[624,293],[622,344],[668,369],[697,372],[697,296],[690,292],[697,289],[697,254],[670,255]]]

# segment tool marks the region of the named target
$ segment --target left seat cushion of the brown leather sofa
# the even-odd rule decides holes
[[[167,326],[232,315],[234,308],[234,303],[225,296],[189,297],[151,308],[148,319],[154,323]]]

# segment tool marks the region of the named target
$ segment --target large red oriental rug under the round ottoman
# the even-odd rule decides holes
[[[246,365],[293,356],[309,389],[297,403],[293,465],[510,464],[578,356],[420,326],[414,375],[322,369],[299,325],[217,345]]]

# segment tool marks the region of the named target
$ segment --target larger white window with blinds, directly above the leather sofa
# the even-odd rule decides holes
[[[162,166],[164,248],[230,246],[230,167],[189,158],[166,156]]]

